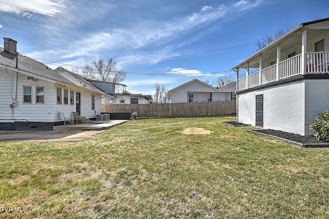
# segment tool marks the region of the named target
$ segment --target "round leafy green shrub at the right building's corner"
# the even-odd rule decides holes
[[[318,140],[329,142],[329,110],[319,113],[309,129]]]

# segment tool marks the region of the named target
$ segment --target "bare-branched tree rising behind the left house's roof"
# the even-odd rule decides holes
[[[117,61],[112,57],[107,59],[107,63],[104,59],[93,59],[92,66],[85,65],[82,69],[82,76],[100,81],[108,81],[113,83],[120,83],[125,78],[125,72],[123,68],[117,69]]]

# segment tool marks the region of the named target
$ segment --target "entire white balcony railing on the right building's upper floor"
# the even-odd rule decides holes
[[[279,69],[277,70],[277,66]],[[305,74],[328,74],[329,52],[307,52]],[[271,65],[261,71],[254,72],[248,77],[239,79],[239,90],[248,89],[262,84],[279,81],[303,74],[302,55],[291,57]],[[247,80],[248,79],[248,80]]]

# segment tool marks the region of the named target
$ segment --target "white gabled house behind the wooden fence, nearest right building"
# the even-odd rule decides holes
[[[235,82],[219,89],[193,79],[168,91],[170,103],[235,100]]]

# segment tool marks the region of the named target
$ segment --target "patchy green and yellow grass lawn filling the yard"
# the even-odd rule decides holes
[[[0,217],[328,217],[329,149],[228,120],[142,119],[78,142],[0,142],[0,206],[23,211]],[[191,127],[196,135],[181,133]]]

